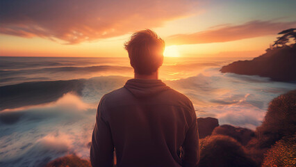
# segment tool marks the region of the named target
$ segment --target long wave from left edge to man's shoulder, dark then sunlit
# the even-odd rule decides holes
[[[74,93],[92,102],[101,95],[123,86],[128,77],[109,76],[67,81],[33,81],[0,86],[0,111],[55,102],[66,93]]]

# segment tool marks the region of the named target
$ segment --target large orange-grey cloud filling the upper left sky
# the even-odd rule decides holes
[[[111,38],[189,15],[195,1],[1,1],[0,33],[69,44]]]

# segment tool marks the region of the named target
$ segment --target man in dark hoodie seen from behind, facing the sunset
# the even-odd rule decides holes
[[[126,42],[135,78],[101,97],[92,133],[92,166],[197,166],[192,102],[158,79],[165,42],[149,29]]]

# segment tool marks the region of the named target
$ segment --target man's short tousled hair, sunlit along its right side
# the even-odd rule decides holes
[[[131,66],[137,74],[152,74],[163,64],[165,41],[154,31],[145,29],[133,33],[124,47],[129,53]]]

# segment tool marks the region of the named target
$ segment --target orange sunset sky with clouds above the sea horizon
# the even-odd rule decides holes
[[[1,0],[0,56],[127,56],[152,29],[165,56],[258,56],[296,27],[296,1]]]

